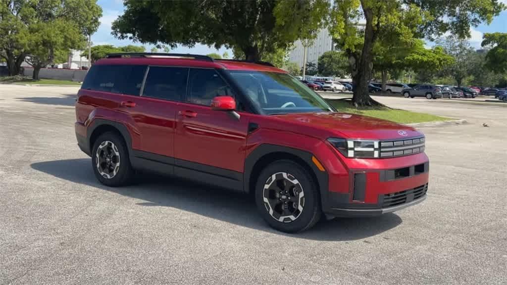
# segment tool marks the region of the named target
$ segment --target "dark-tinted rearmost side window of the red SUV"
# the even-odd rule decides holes
[[[81,88],[138,96],[144,65],[93,65]]]

